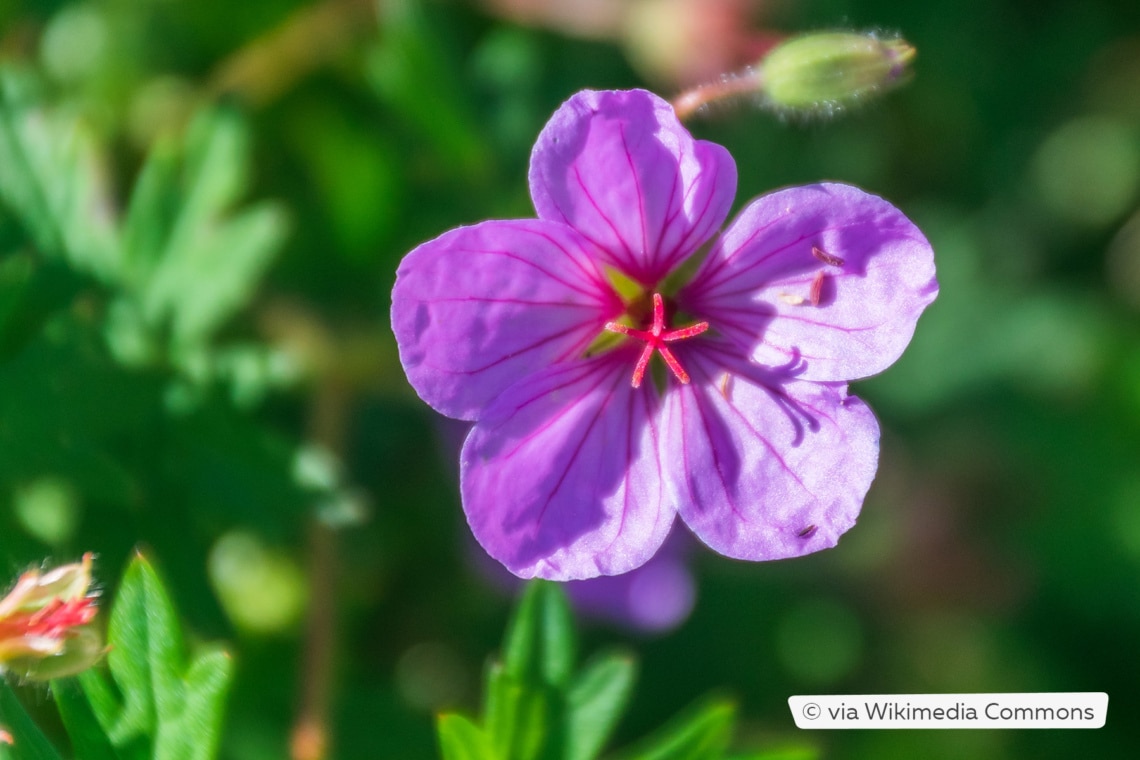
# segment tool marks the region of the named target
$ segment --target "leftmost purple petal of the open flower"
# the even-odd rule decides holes
[[[420,397],[477,419],[520,377],[580,356],[621,310],[592,244],[564,224],[490,221],[400,263],[392,330]]]

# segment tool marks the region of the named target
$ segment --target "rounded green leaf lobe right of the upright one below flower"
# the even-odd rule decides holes
[[[632,655],[595,659],[567,692],[565,760],[592,760],[605,745],[629,702],[637,667]]]

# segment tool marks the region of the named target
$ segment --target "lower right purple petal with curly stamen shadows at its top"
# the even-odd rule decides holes
[[[777,382],[685,346],[666,395],[663,456],[681,517],[712,549],[780,559],[836,545],[874,477],[879,425],[844,387]]]

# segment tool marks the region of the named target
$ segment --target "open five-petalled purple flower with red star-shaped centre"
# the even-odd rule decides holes
[[[845,185],[762,196],[717,236],[735,189],[727,150],[666,101],[584,91],[531,154],[538,219],[461,227],[400,264],[400,359],[474,423],[464,510],[515,574],[624,573],[677,514],[744,559],[854,524],[879,428],[846,381],[910,342],[938,289],[930,245]]]

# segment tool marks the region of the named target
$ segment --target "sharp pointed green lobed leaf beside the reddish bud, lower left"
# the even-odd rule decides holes
[[[81,680],[112,743],[153,749],[154,760],[209,760],[217,753],[233,665],[210,649],[185,665],[173,604],[150,564],[135,558],[111,611],[107,663],[122,694],[97,677]]]

